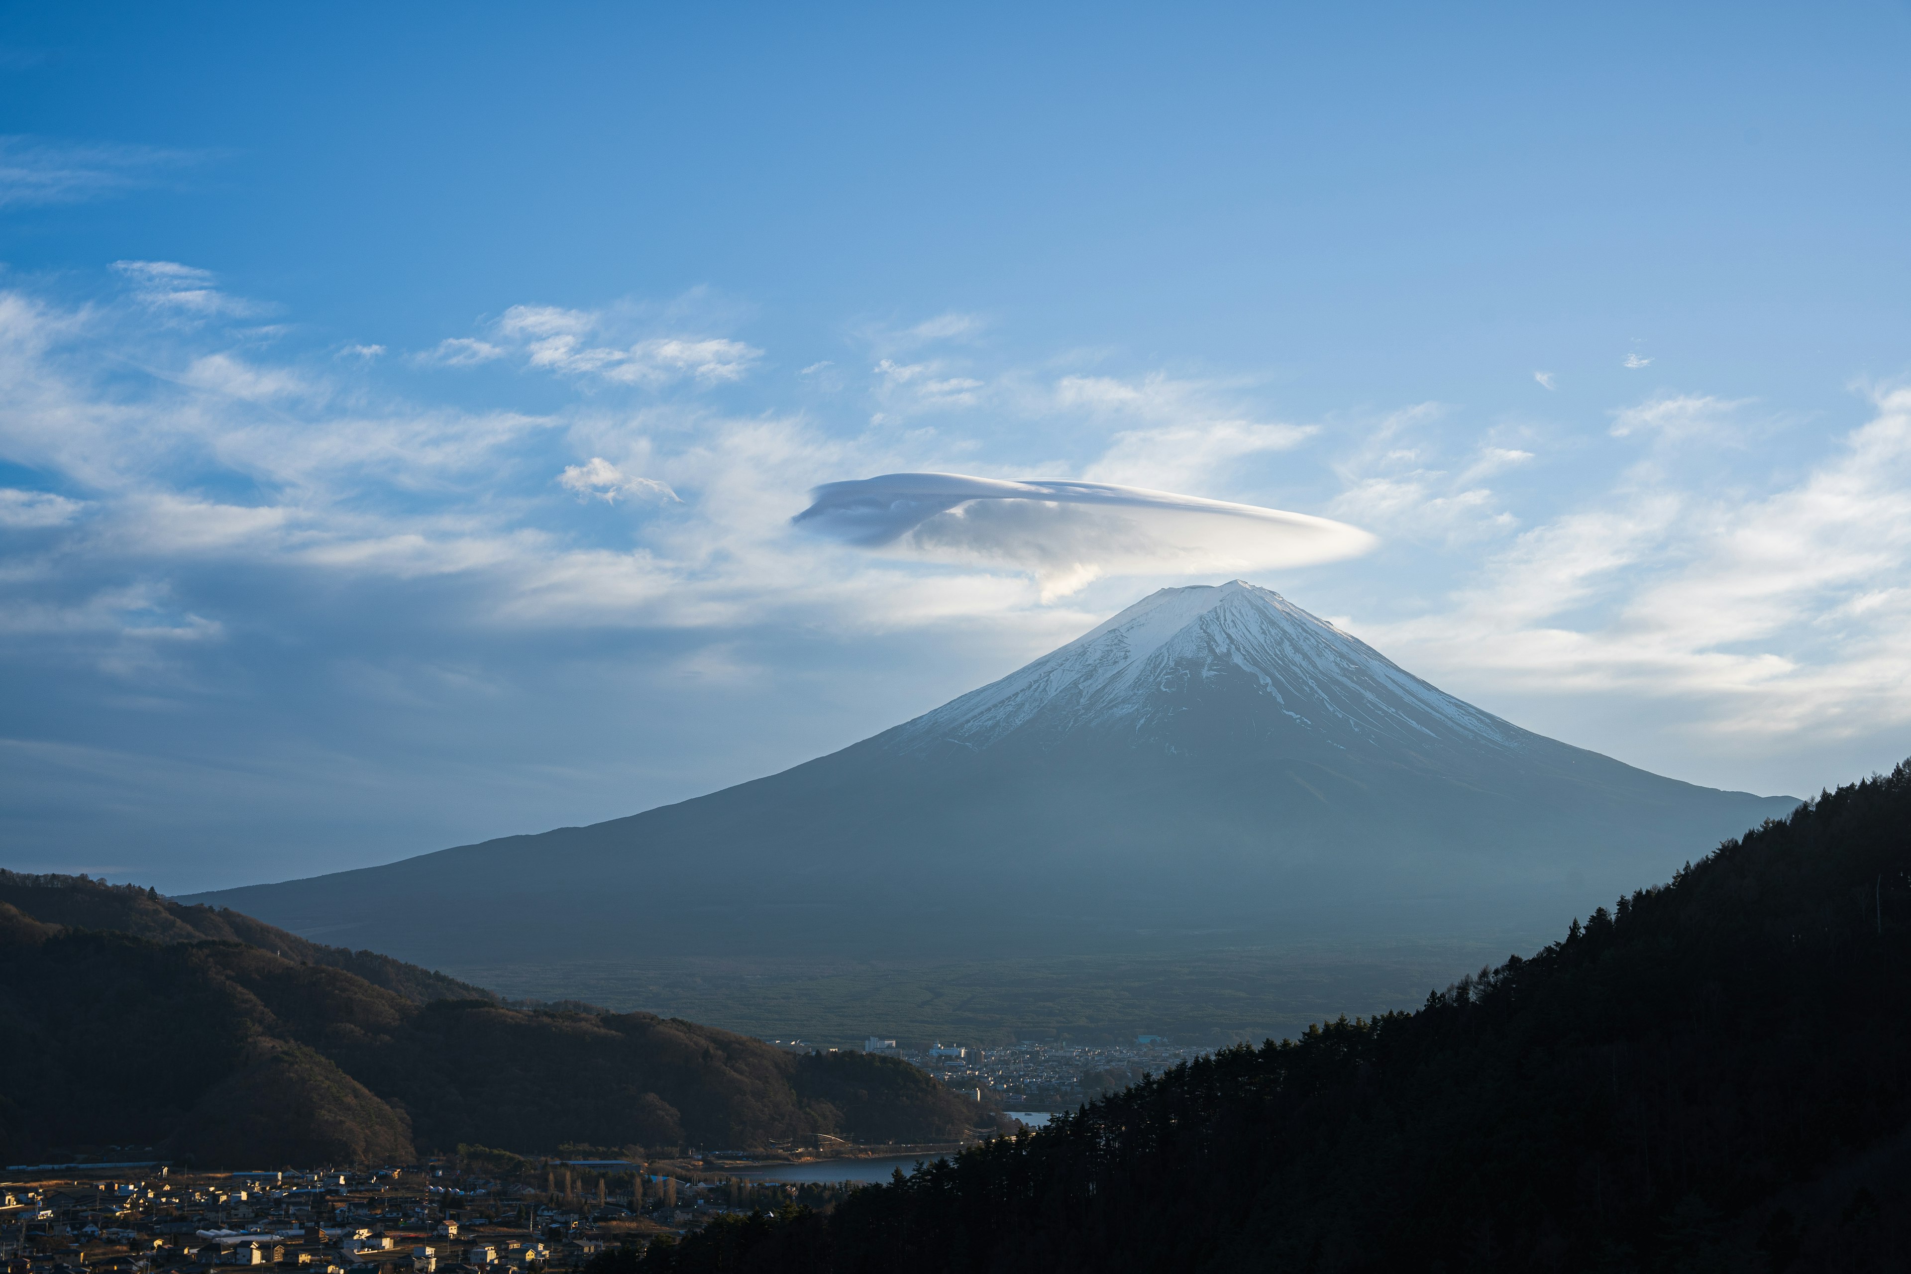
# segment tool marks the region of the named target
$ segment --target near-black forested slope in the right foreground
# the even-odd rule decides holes
[[[1911,762],[1418,1012],[644,1270],[1903,1270]]]

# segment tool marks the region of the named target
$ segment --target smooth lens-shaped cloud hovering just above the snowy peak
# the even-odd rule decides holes
[[[1353,558],[1359,527],[1099,481],[883,474],[816,487],[791,521],[877,552],[1032,571],[1045,596],[1103,575],[1227,573]]]

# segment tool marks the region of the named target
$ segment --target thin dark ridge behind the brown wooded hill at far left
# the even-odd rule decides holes
[[[497,999],[483,987],[390,955],[327,947],[250,915],[204,903],[189,907],[138,884],[0,869],[0,902],[50,924],[111,928],[153,942],[243,942],[302,965],[344,968],[420,1005],[432,999]]]

